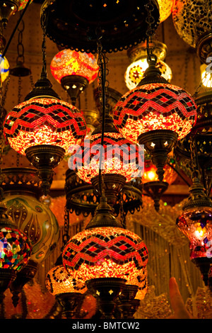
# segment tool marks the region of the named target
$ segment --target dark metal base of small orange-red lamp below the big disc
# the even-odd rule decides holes
[[[81,77],[81,75],[67,75],[61,78],[61,86],[71,98],[73,106],[76,104],[76,99],[88,86],[88,79]]]

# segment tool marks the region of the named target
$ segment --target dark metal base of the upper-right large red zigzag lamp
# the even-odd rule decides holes
[[[151,130],[139,135],[139,145],[144,145],[146,151],[151,154],[159,181],[163,181],[165,172],[163,168],[167,162],[167,154],[175,147],[177,137],[177,133],[172,130]]]

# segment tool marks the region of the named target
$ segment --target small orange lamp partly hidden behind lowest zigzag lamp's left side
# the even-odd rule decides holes
[[[55,296],[63,308],[63,314],[71,319],[77,307],[81,307],[86,293],[86,284],[72,278],[63,265],[54,266],[47,273],[45,284],[49,293]]]

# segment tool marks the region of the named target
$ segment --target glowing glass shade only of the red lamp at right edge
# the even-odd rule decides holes
[[[189,208],[177,218],[177,227],[189,238],[191,259],[211,258],[212,208]]]

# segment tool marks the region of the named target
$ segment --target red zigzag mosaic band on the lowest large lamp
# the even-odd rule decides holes
[[[147,264],[148,249],[139,236],[129,230],[96,227],[72,237],[63,252],[63,264],[70,271],[80,270],[83,264],[101,266],[105,259],[110,259],[114,267],[130,263],[139,272]]]

